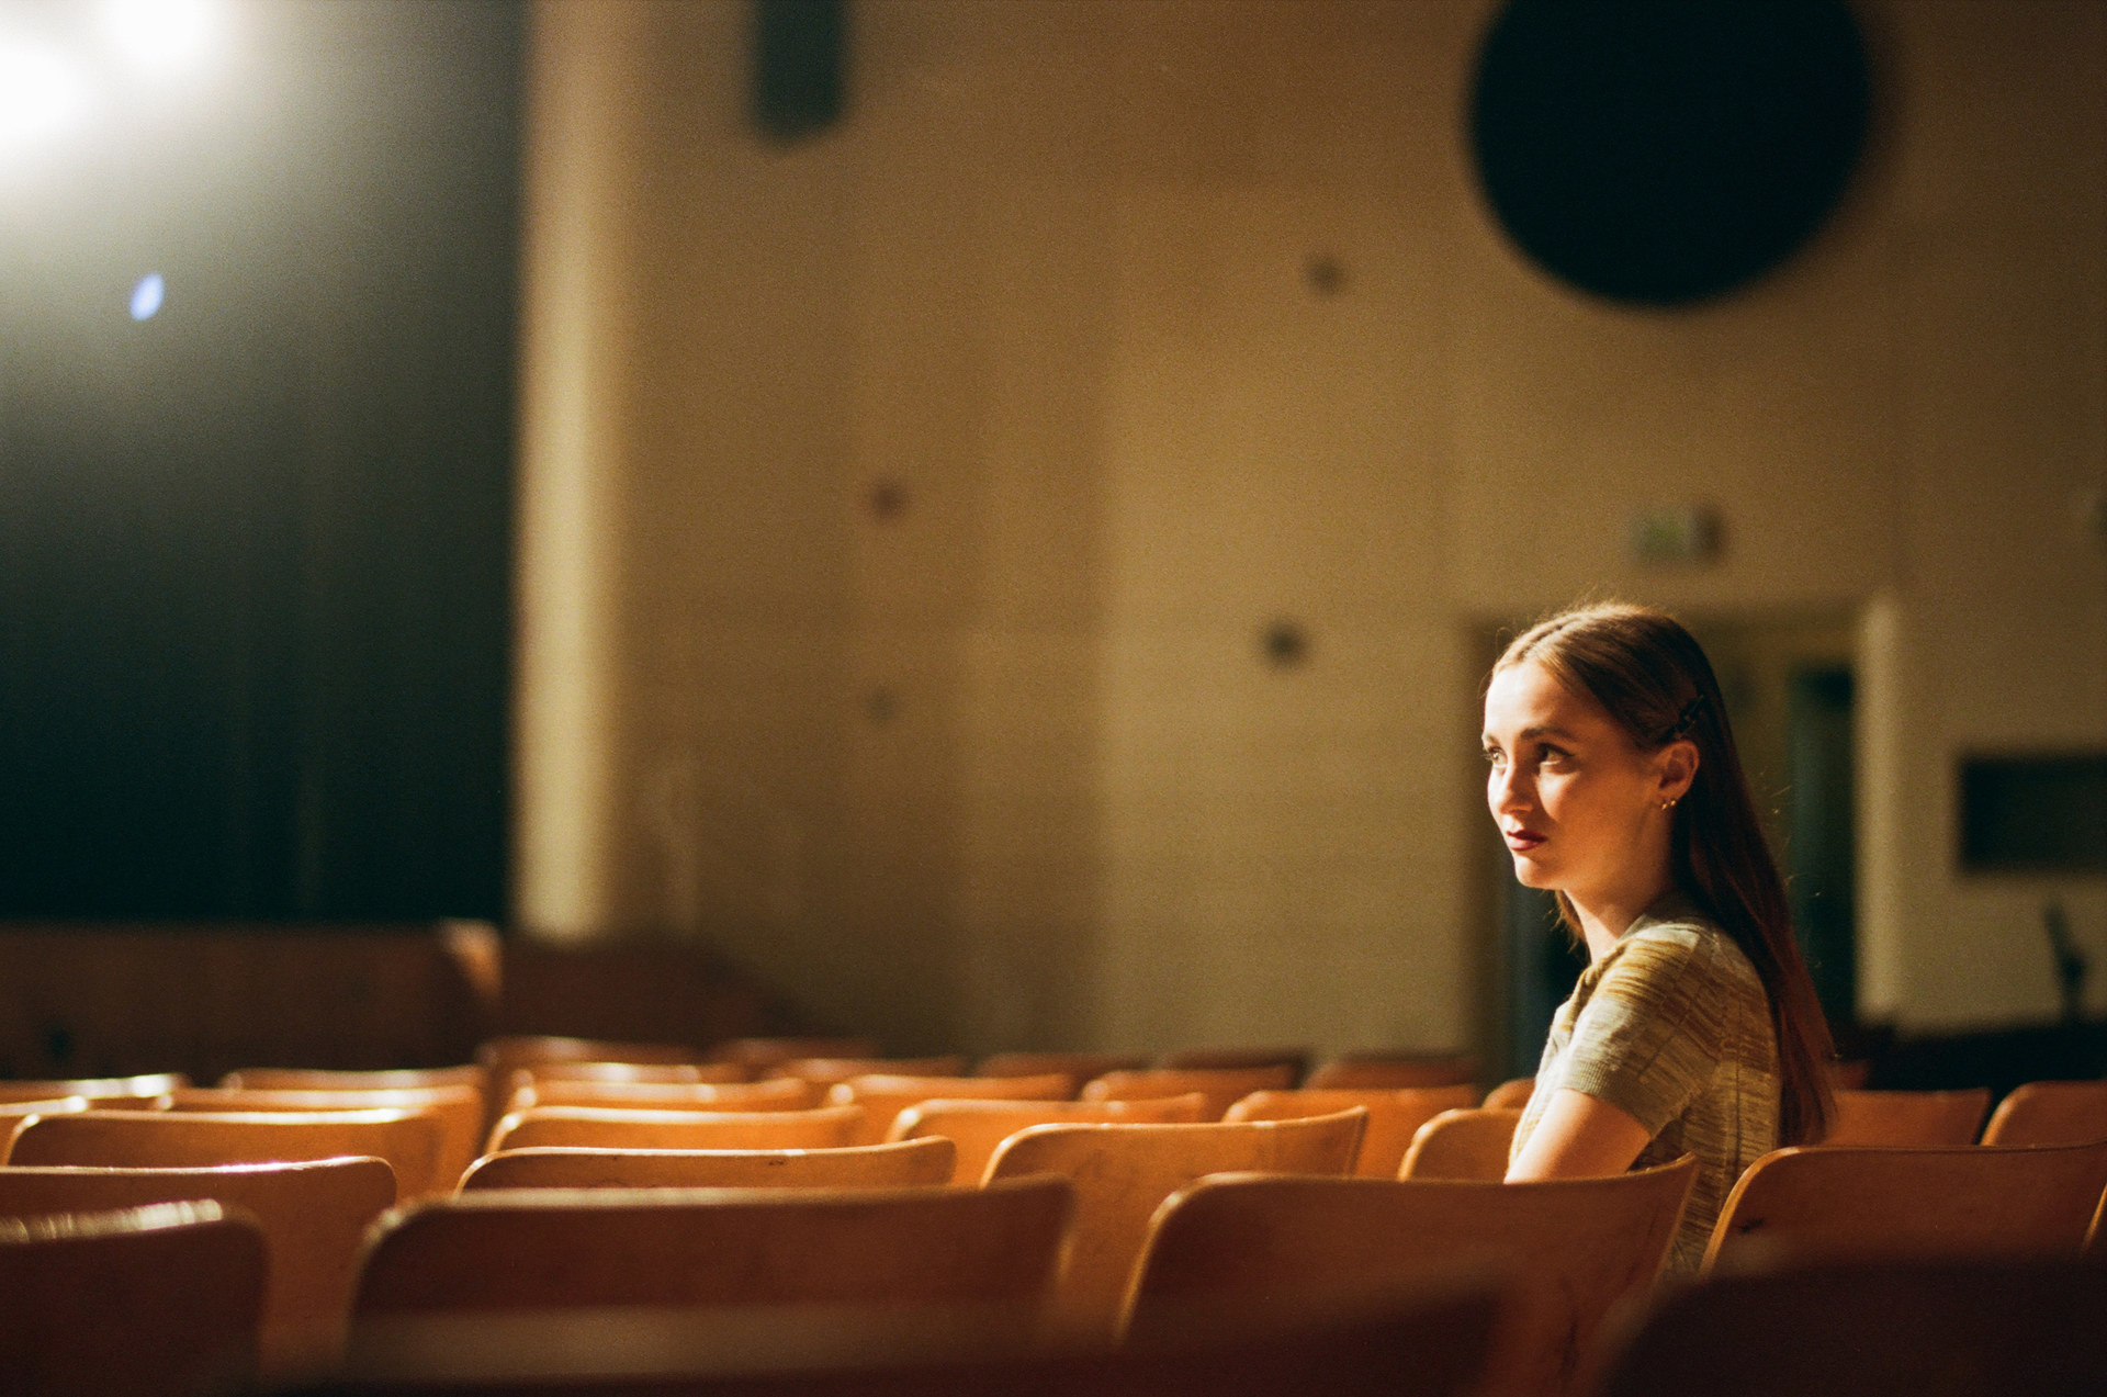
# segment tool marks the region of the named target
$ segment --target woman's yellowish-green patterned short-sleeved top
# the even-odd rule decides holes
[[[1734,1180],[1778,1146],[1778,1039],[1749,957],[1681,898],[1654,904],[1553,1016],[1509,1159],[1559,1087],[1646,1127],[1633,1169],[1696,1155],[1667,1266],[1694,1275]]]

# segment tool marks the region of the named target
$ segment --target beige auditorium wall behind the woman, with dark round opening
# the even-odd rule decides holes
[[[544,2],[520,921],[902,1049],[1462,1045],[1481,634],[1616,592],[1860,617],[1867,1007],[2046,1014],[2107,889],[1960,879],[1951,773],[2107,742],[2107,4],[1863,13],[1844,213],[1660,314],[1488,223],[1479,0],[864,0],[790,150],[744,4]]]

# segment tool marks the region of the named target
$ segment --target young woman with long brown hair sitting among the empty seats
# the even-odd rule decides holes
[[[1582,607],[1485,687],[1485,799],[1589,967],[1551,1022],[1509,1182],[1698,1157],[1669,1254],[1688,1275],[1759,1155],[1820,1140],[1829,1026],[1793,944],[1719,681],[1675,619]]]

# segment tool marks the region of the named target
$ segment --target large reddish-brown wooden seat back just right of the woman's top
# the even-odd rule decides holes
[[[2103,1191],[2107,1142],[1772,1150],[1719,1209],[1705,1271],[1736,1254],[2069,1256]]]

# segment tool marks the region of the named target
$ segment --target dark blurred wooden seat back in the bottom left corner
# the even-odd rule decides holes
[[[0,1222],[0,1384],[11,1393],[247,1391],[263,1235],[219,1203]]]

